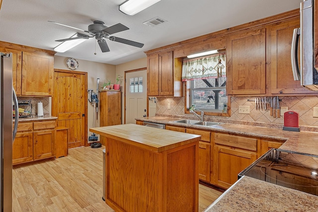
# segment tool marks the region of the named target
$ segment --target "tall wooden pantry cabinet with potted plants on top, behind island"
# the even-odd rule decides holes
[[[99,93],[100,127],[121,124],[121,91],[102,90]],[[105,138],[100,137],[105,145]]]

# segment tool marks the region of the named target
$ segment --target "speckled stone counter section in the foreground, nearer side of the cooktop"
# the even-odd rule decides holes
[[[317,212],[318,197],[243,176],[204,212]]]

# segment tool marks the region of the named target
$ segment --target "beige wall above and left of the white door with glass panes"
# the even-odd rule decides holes
[[[120,81],[120,89],[122,91],[122,95],[121,95],[121,99],[122,99],[122,123],[124,124],[125,123],[125,111],[123,108],[125,108],[125,96],[124,96],[124,75],[125,75],[125,71],[130,71],[130,70],[135,70],[135,69],[141,69],[141,68],[145,68],[147,67],[147,57],[145,56],[145,58],[141,58],[141,59],[138,59],[138,60],[134,60],[134,61],[130,61],[130,62],[127,62],[127,63],[123,63],[123,64],[120,64],[120,65],[117,65],[116,66],[116,75],[121,75],[123,76],[121,78],[121,81]],[[145,84],[145,82],[144,82]],[[147,86],[147,84],[145,84],[145,86]]]

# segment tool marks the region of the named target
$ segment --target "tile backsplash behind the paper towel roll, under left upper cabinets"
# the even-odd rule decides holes
[[[31,100],[32,104],[32,115],[36,116],[38,112],[38,102],[41,101],[43,104],[43,114],[44,115],[51,115],[51,97],[28,97],[28,96],[17,96],[18,100]],[[26,106],[28,107],[28,106]],[[26,108],[30,110],[31,108]]]

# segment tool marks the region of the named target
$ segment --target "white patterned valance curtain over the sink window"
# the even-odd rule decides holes
[[[182,81],[226,77],[225,66],[225,53],[185,59],[182,64]]]

